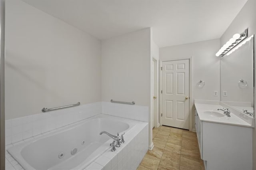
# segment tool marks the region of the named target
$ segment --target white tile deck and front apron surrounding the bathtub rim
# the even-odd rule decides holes
[[[108,115],[98,115],[97,117],[110,117]],[[116,117],[117,118],[117,117]],[[118,118],[120,119],[120,118]],[[127,119],[129,121],[129,119]],[[132,127],[131,130],[128,130],[127,133],[125,134],[125,143],[121,144],[121,147],[116,148],[117,150],[115,152],[111,152],[110,148],[107,149],[106,152],[102,153],[101,156],[96,158],[94,162],[92,162],[88,168],[90,169],[102,169],[103,166],[104,170],[107,169],[116,169],[117,167],[122,167],[126,168],[128,167],[129,169],[136,169],[137,166],[140,164],[140,161],[142,160],[143,156],[146,154],[148,148],[148,123],[141,122],[141,121],[133,121],[130,120],[132,124],[136,123],[135,127]],[[72,125],[70,125],[72,126]],[[64,127],[63,129],[65,129]],[[61,129],[60,129],[61,130]],[[56,132],[57,130],[54,130],[53,132]],[[59,131],[59,130],[58,130]],[[33,140],[34,138],[40,138],[43,137],[44,135],[52,134],[52,132],[47,132],[41,135],[38,135],[36,137],[32,137],[27,140]],[[6,147],[12,147],[17,144],[22,144],[25,142],[24,140],[20,142],[16,142],[14,145],[10,144]],[[132,156],[136,155],[136,156]],[[112,160],[113,158],[113,160]],[[117,162],[116,164],[114,164]],[[104,164],[106,163],[106,164]],[[133,166],[129,166],[133,165]],[[98,168],[97,168],[98,167]],[[111,168],[112,167],[112,168]],[[87,168],[87,169],[88,169]],[[6,169],[11,170],[11,169],[22,169],[20,164],[12,156],[6,151]]]

